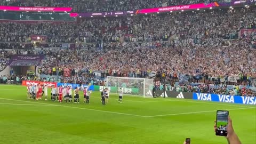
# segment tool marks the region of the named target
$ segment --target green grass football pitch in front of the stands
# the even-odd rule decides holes
[[[26,86],[0,85],[0,92],[1,144],[227,143],[215,136],[216,110],[229,110],[242,143],[256,141],[255,106],[132,95],[118,103],[111,93],[103,106],[99,92],[90,105],[27,99]]]

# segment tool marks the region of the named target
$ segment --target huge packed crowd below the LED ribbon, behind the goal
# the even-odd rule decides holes
[[[151,72],[166,71],[169,81],[187,75],[189,82],[214,84],[215,79],[220,83],[235,76],[239,84],[250,85],[256,77],[252,71],[256,68],[255,31],[239,31],[256,28],[254,14],[255,7],[81,19],[77,23],[1,22],[0,46],[14,49],[21,44],[22,49],[23,43],[30,42],[29,35],[46,35],[48,46],[76,43],[76,50],[43,45],[29,50],[46,55],[41,74],[63,76],[63,69],[69,68],[77,77],[93,71],[104,77],[149,77]]]

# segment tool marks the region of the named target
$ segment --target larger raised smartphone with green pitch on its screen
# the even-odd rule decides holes
[[[217,131],[216,135],[227,136],[228,135],[228,114],[227,110],[217,110],[216,125]]]

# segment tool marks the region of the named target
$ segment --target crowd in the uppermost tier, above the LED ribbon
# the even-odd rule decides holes
[[[151,7],[204,3],[205,0],[10,0],[2,1],[0,5],[9,6],[59,6],[73,7],[74,12],[105,12],[129,11]],[[210,1],[207,1],[210,2]],[[86,3],[86,5],[85,5]]]

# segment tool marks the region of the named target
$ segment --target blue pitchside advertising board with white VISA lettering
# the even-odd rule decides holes
[[[194,100],[204,101],[217,101],[217,102],[229,102],[239,103],[246,105],[256,105],[256,97],[243,97],[243,96],[232,96],[223,94],[210,94],[210,93],[193,93]]]

